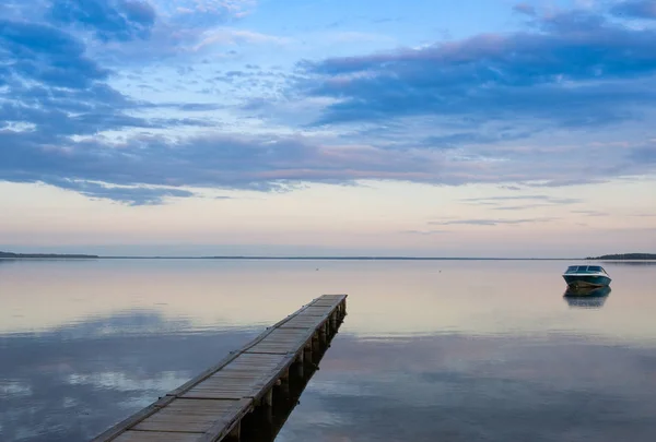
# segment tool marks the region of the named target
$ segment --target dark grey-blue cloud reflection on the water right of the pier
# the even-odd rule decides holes
[[[339,336],[279,441],[652,441],[656,351]]]

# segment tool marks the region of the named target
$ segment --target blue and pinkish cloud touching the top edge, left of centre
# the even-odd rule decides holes
[[[178,63],[189,62],[215,56],[213,45],[198,50],[199,43],[208,38],[207,33],[238,21],[257,4],[250,0],[34,1],[38,3],[31,9],[21,8],[20,13],[12,7],[12,15],[38,22],[43,14],[47,22],[84,37],[94,59],[116,68],[144,67],[173,58]]]

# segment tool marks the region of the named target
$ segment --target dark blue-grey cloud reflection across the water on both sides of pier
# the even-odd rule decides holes
[[[255,334],[171,328],[139,312],[1,337],[2,440],[86,441]],[[277,440],[646,442],[655,373],[654,348],[577,336],[340,333]]]

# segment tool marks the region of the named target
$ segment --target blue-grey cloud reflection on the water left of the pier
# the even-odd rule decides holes
[[[0,335],[0,440],[87,441],[246,343],[154,312]]]

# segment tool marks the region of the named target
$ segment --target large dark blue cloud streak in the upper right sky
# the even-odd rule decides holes
[[[570,11],[528,31],[298,63],[298,94],[337,99],[318,124],[431,116],[578,128],[656,103],[656,31]]]

